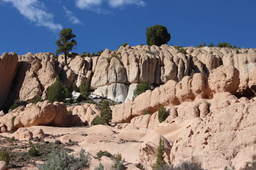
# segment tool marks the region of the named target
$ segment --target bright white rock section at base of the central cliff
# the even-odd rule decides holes
[[[94,94],[114,101],[125,102],[125,98],[127,96],[127,87],[124,84],[114,83],[111,85],[98,87],[98,89],[94,91]]]

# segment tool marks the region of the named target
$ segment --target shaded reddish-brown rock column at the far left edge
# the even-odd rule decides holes
[[[0,57],[0,110],[4,107],[18,66],[18,55],[16,53],[3,53]]]

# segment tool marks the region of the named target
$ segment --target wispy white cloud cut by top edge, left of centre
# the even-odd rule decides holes
[[[111,10],[101,8],[103,2],[106,2],[110,7],[125,7],[126,5],[135,5],[137,7],[145,6],[146,3],[141,0],[76,0],[75,4],[79,9],[86,9],[97,14],[111,14]]]

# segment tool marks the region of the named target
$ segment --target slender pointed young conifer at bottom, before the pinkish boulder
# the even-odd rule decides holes
[[[164,141],[159,137],[159,146],[157,148],[157,158],[156,162],[151,166],[152,170],[161,169],[161,167],[166,164],[164,161]]]

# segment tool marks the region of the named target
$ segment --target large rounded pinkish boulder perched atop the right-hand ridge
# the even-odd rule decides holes
[[[213,93],[234,93],[239,86],[239,71],[231,65],[222,65],[210,73],[208,83]]]

